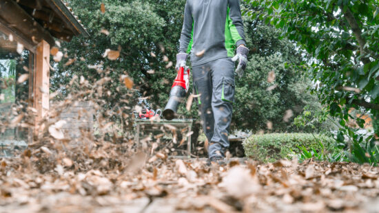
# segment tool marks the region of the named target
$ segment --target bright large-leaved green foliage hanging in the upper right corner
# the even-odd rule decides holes
[[[247,16],[279,28],[309,54],[303,67],[320,82],[314,93],[342,126],[338,142],[345,143],[347,135],[351,155],[360,155],[358,162],[371,162],[365,153],[373,146],[358,146],[362,135],[347,124],[355,118],[351,108],[379,109],[378,1],[245,1],[256,7]],[[356,120],[362,128],[365,122]],[[367,137],[366,144],[372,140]]]

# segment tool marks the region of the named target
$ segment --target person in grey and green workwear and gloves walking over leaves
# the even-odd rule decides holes
[[[201,94],[197,102],[209,141],[209,164],[221,163],[229,147],[234,61],[239,61],[236,73],[242,76],[248,52],[239,0],[187,0],[176,69],[185,67],[191,53],[194,92]]]

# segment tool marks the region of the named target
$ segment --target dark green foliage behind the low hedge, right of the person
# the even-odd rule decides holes
[[[307,91],[307,87],[311,87],[311,80],[299,67],[303,57],[293,43],[279,38],[279,30],[260,20],[244,21],[250,55],[245,75],[236,78],[232,125],[254,132],[310,131],[310,128],[291,125],[304,106],[320,108],[316,95]],[[267,80],[270,72],[275,74],[272,82]],[[285,122],[283,116],[289,109],[293,111],[294,117]],[[267,122],[272,122],[272,129],[267,128]],[[324,126],[318,127],[317,131],[320,131]]]

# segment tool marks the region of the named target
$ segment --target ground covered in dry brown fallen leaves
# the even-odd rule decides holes
[[[1,159],[0,212],[377,212],[379,168],[130,156],[53,147]],[[96,153],[96,154],[94,154]]]

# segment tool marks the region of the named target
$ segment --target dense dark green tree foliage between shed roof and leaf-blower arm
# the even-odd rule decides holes
[[[52,91],[67,96],[72,90],[69,85],[74,76],[83,76],[90,82],[106,76],[111,80],[98,93],[103,93],[108,109],[119,111],[133,109],[136,105],[163,109],[176,76],[174,67],[167,65],[170,61],[175,63],[185,1],[102,2],[105,4],[104,14],[100,10],[100,1],[70,1],[70,7],[88,28],[91,37],[78,36],[70,43],[61,44],[60,49],[67,57],[52,65],[57,67],[51,76]],[[102,33],[104,30],[109,34]],[[120,50],[121,54],[117,60],[109,60],[103,58],[106,49]],[[169,61],[163,60],[166,56]],[[75,63],[66,65],[72,59]],[[100,69],[94,69],[95,66]],[[123,85],[123,76],[133,80],[132,89]],[[130,93],[128,102],[120,102],[125,93]],[[183,109],[182,106],[179,112],[187,117],[197,115],[194,107],[190,112]],[[123,111],[125,114],[132,113]]]

